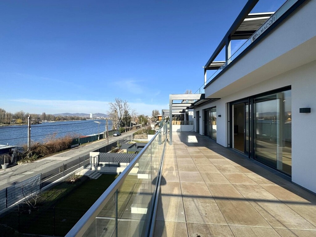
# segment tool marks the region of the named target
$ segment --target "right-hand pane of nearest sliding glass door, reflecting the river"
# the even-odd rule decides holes
[[[291,174],[291,90],[254,99],[255,159]]]

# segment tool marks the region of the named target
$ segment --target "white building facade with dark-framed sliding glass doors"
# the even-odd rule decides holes
[[[276,26],[205,82],[205,98],[219,100],[195,108],[194,125],[316,193],[316,0],[288,2]]]

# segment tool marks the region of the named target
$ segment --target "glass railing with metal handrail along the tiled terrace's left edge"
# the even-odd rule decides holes
[[[165,123],[66,235],[148,236],[167,141]]]

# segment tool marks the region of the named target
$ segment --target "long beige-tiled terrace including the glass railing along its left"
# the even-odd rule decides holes
[[[315,195],[195,132],[171,146],[166,126],[66,236],[316,235]]]

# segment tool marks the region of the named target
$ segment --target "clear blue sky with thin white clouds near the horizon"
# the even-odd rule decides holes
[[[167,109],[169,94],[203,84],[202,67],[246,2],[1,1],[0,108],[106,113],[119,97],[140,114]]]

